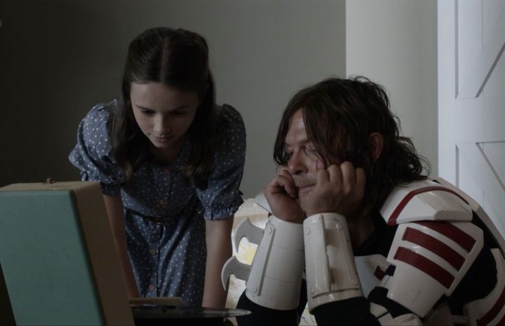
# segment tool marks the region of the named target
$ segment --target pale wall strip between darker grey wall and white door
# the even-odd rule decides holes
[[[436,0],[346,1],[346,72],[387,89],[431,176],[438,175],[436,12]]]

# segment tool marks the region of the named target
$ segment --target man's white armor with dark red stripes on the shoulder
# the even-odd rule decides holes
[[[304,244],[308,306],[311,312],[324,303],[362,296],[363,293],[368,296],[372,288],[378,286],[387,290],[387,297],[390,300],[412,312],[393,317],[388,309],[372,302],[370,312],[379,319],[381,325],[453,325],[456,323],[495,325],[505,320],[505,241],[484,210],[473,199],[445,180],[438,180],[438,182],[440,183],[412,182],[406,186],[396,187],[388,196],[380,213],[388,225],[398,225],[388,257],[380,254],[353,257],[346,219],[334,213],[308,217],[303,224],[304,238],[301,231],[293,231],[290,235],[283,233],[281,241],[283,246],[276,250],[289,252],[292,246],[291,250],[297,252],[295,256],[300,257],[300,255],[303,256]],[[265,198],[258,197],[257,202],[269,210]],[[488,296],[463,307],[464,316],[454,316],[445,304],[438,305],[436,309],[433,307],[441,296],[450,296],[453,293],[482,249],[483,232],[471,223],[472,210],[478,214],[500,245],[500,248],[491,250],[496,263],[498,281]],[[283,225],[274,224],[273,228],[277,231],[277,228],[279,230],[284,228]],[[243,237],[243,232],[238,233],[241,233],[240,237]],[[256,232],[257,237],[258,235],[259,233]],[[284,242],[288,238],[291,244]],[[273,239],[270,237],[267,239],[265,243],[273,243]],[[276,238],[277,240],[279,239]],[[262,246],[276,247],[270,244],[264,245],[263,241],[260,244],[260,247]],[[284,299],[277,298],[276,300],[279,301],[275,303],[275,300],[265,300],[261,294],[256,296],[251,291],[254,290],[250,287],[251,279],[266,280],[268,278],[276,281],[269,282],[268,285],[265,281],[254,281],[254,284],[262,284],[262,291],[265,291],[267,286],[271,286],[269,293],[287,296],[287,287],[276,279],[280,277],[280,279],[288,280],[283,274],[287,272],[285,269],[282,272],[280,272],[281,269],[275,269],[277,274],[274,276],[273,273],[264,272],[270,270],[268,267],[256,267],[256,264],[268,266],[274,257],[273,254],[267,257],[265,252],[268,250],[263,248],[260,250],[260,247],[254,257],[253,269],[247,275],[249,281],[246,295],[259,305],[282,309],[275,306]],[[301,279],[301,268],[295,267],[295,265],[303,265],[299,259],[293,259],[284,253],[276,257],[280,260],[275,263],[281,268],[289,265],[288,269],[297,271],[290,274],[289,282],[294,283],[296,277]],[[223,268],[223,283],[228,274],[232,273],[229,272],[227,265]],[[388,267],[394,267],[394,273],[390,273],[391,276],[385,273]],[[260,272],[253,272],[253,270]],[[237,270],[234,273],[240,274],[240,271]],[[247,272],[242,274],[245,275]],[[296,286],[290,288],[293,295],[299,294]],[[298,303],[294,297],[291,298],[293,301],[290,301],[292,305],[289,309],[293,309],[295,303]]]

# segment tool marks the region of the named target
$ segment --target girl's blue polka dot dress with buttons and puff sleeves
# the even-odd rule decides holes
[[[107,126],[117,101],[96,105],[80,122],[69,160],[82,180],[98,181],[105,195],[122,197],[126,242],[142,296],[181,296],[198,307],[205,278],[205,219],[226,219],[243,203],[238,186],[245,161],[245,127],[240,113],[218,107],[218,146],[208,186],[186,182],[179,168],[190,156],[186,142],[170,164],[148,161],[130,187],[111,154]]]

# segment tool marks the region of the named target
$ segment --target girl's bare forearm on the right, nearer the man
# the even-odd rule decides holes
[[[205,241],[207,243],[207,263],[205,265],[205,286],[203,287],[203,307],[224,308],[227,291],[221,286],[221,269],[232,256],[233,217],[218,221],[205,221]]]

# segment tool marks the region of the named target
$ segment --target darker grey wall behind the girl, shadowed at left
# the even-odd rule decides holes
[[[247,129],[242,191],[275,173],[273,139],[295,90],[344,76],[345,0],[47,0],[0,3],[0,186],[77,180],[67,161],[91,106],[117,94],[128,42],[155,25],[210,45],[218,102]]]

